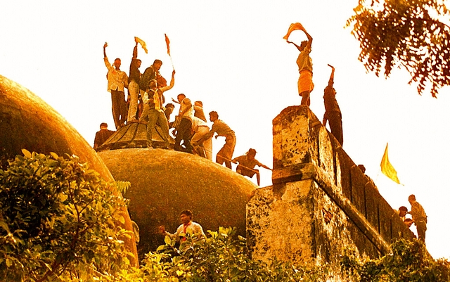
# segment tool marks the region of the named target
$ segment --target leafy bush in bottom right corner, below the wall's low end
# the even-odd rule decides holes
[[[351,281],[450,281],[450,262],[433,259],[421,241],[400,240],[391,248],[391,254],[366,262],[347,252],[342,257],[342,267],[352,278]]]

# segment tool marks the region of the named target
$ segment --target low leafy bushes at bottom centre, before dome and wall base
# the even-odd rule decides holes
[[[176,249],[175,241],[166,237],[160,253],[148,253],[141,269],[148,281],[325,281],[321,267],[295,268],[274,259],[266,264],[251,259],[245,238],[235,238],[236,229],[220,227],[208,231],[203,241],[188,238]],[[195,242],[195,243],[194,243]]]

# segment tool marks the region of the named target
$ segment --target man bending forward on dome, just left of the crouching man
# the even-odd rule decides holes
[[[211,138],[214,133],[218,136],[225,137],[224,146],[217,152],[216,162],[219,165],[225,163],[225,166],[231,169],[231,159],[233,159],[234,147],[236,146],[236,136],[231,128],[225,123],[219,120],[219,114],[216,111],[210,113],[210,121],[213,122],[210,132],[205,134],[201,141],[205,141]]]

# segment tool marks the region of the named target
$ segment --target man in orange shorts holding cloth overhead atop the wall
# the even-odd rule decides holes
[[[302,30],[302,32],[306,34],[308,40],[302,41],[300,46],[292,41],[289,41],[288,38],[290,32],[293,32],[294,30]],[[300,72],[300,77],[297,82],[298,94],[302,96],[302,102],[300,104],[309,106],[311,104],[309,94],[314,89],[314,83],[312,82],[312,60],[309,56],[309,53],[311,53],[312,37],[300,23],[294,23],[290,25],[288,34],[286,34],[283,38],[286,39],[288,43],[294,44],[298,51],[300,51],[297,58],[298,71]]]

